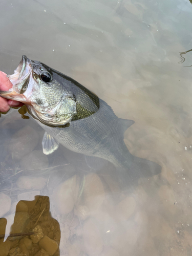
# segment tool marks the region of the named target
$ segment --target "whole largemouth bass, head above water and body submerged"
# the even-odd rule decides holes
[[[127,150],[124,132],[134,121],[118,118],[106,102],[74,79],[26,56],[8,77],[13,88],[0,95],[26,104],[46,131],[45,154],[53,153],[60,143],[71,151],[112,162],[130,179],[161,172],[159,164]]]

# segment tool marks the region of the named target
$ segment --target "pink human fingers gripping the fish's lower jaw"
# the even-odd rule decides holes
[[[7,75],[0,71],[0,91],[8,91],[13,87],[13,84],[10,82]],[[10,109],[10,106],[23,106],[24,104],[19,101],[5,99],[0,96],[0,112],[7,112]]]

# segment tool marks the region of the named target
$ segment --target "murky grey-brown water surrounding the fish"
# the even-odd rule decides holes
[[[0,119],[0,255],[192,254],[191,52],[178,63],[191,12],[188,0],[1,1],[0,70],[25,54],[73,77],[135,121],[127,148],[162,172],[125,194],[112,165],[95,172],[62,146],[45,156],[44,131],[11,110]]]

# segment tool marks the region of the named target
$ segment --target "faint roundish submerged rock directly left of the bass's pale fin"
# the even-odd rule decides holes
[[[16,132],[8,145],[13,159],[19,160],[33,151],[38,144],[38,137],[38,133],[28,125]]]

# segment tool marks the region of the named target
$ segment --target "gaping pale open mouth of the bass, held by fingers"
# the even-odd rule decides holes
[[[26,97],[23,94],[24,86],[28,86],[29,76],[32,72],[32,63],[27,56],[23,55],[22,60],[19,62],[18,67],[15,69],[14,74],[7,75],[13,87],[8,91],[0,91],[0,95],[7,99],[22,101],[26,103]]]

